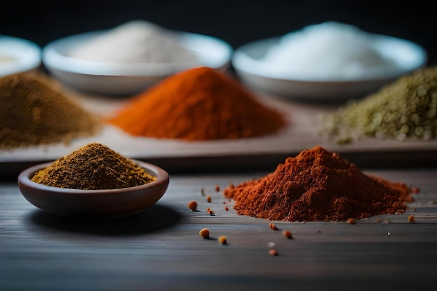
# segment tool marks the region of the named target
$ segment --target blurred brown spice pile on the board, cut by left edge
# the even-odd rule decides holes
[[[0,78],[0,149],[94,135],[101,121],[34,73]]]

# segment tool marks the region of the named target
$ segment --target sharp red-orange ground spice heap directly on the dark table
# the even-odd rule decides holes
[[[237,214],[274,221],[347,221],[403,213],[410,188],[364,174],[323,147],[286,158],[265,177],[229,186]]]

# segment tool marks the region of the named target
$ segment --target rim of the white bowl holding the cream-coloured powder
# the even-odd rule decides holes
[[[185,46],[185,43],[191,42],[203,42],[214,45],[216,49],[220,50],[219,57],[212,59],[200,59],[200,61],[193,62],[173,62],[173,63],[104,63],[101,61],[89,61],[84,59],[77,59],[69,57],[66,54],[62,54],[63,46],[70,43],[83,42],[87,38],[98,36],[101,33],[109,31],[97,30],[88,31],[85,33],[77,33],[70,36],[64,36],[57,40],[52,40],[47,43],[42,49],[42,62],[48,70],[60,70],[65,73],[75,73],[81,75],[96,75],[96,76],[115,76],[115,77],[164,77],[172,73],[176,73],[179,70],[185,70],[192,68],[193,66],[211,66],[212,68],[222,68],[226,64],[230,63],[232,59],[233,49],[232,46],[214,36],[207,36],[200,33],[192,33],[187,31],[174,31],[169,30],[170,35],[175,36],[175,39]],[[188,50],[199,51],[188,47]],[[205,62],[209,62],[206,64]],[[203,64],[205,63],[205,64]]]

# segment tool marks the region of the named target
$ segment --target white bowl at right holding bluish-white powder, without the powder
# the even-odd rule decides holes
[[[292,100],[341,102],[371,94],[384,84],[427,64],[427,52],[420,45],[378,34],[374,34],[373,38],[376,50],[397,63],[396,70],[348,80],[286,76],[275,72],[272,66],[262,61],[262,57],[279,42],[280,37],[257,40],[238,47],[232,57],[232,66],[240,80],[257,91]]]

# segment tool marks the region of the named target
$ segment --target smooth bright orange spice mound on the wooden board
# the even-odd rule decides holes
[[[280,112],[237,80],[207,67],[176,73],[134,96],[108,123],[135,136],[219,140],[276,133]]]

